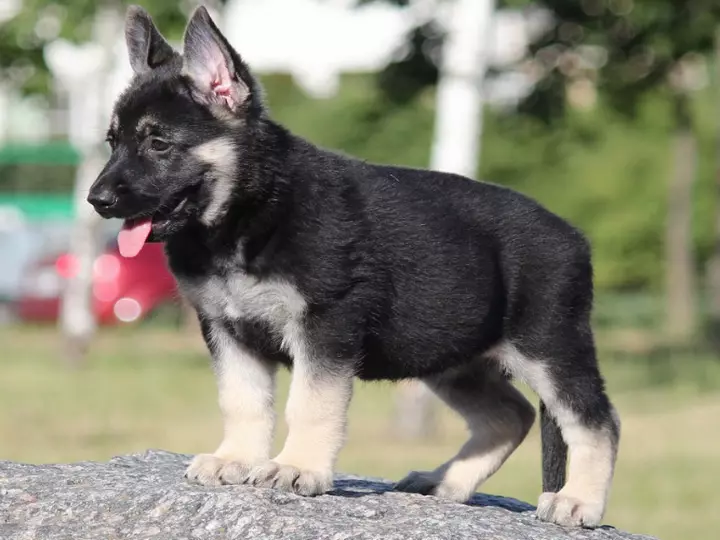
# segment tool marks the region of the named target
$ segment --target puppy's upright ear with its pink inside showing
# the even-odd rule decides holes
[[[195,10],[185,29],[183,58],[183,73],[203,102],[235,112],[250,97],[252,82],[247,67],[203,6]]]

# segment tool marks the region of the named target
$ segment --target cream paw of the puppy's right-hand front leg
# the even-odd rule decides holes
[[[312,497],[321,495],[333,485],[332,471],[309,471],[268,461],[250,471],[248,483],[257,487],[292,491],[298,495]]]

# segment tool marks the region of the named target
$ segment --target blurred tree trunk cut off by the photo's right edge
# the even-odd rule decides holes
[[[707,280],[709,296],[708,337],[720,353],[720,26],[715,32],[715,93],[716,150],[715,150],[715,230],[713,253],[708,261]]]

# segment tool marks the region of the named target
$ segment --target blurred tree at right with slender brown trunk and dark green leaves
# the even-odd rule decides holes
[[[582,78],[595,79],[603,96],[628,116],[651,91],[661,89],[672,103],[675,166],[668,185],[666,327],[675,339],[689,339],[698,315],[691,235],[697,140],[691,100],[697,68],[713,50],[720,5],[714,0],[538,4],[554,18],[532,51],[548,83],[526,101],[526,111],[552,122],[564,112],[567,101],[562,97],[568,84]],[[597,63],[588,69],[590,56]]]

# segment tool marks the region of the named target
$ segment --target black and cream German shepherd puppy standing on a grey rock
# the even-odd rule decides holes
[[[467,501],[533,424],[516,378],[542,403],[538,515],[598,525],[620,424],[596,362],[584,237],[504,187],[367,163],[293,135],[202,7],[182,55],[139,7],[126,37],[134,78],[88,201],[125,220],[125,256],[164,242],[197,310],[224,437],[187,478],[323,493],[354,378],[419,379],[470,438],[397,489]],[[292,367],[289,434],[271,458],[279,365]]]

